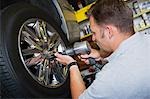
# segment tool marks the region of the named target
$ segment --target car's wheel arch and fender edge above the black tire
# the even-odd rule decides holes
[[[2,0],[1,10],[18,2],[31,4],[53,15],[53,20],[63,30],[63,35],[67,36],[69,45],[80,40],[80,29],[76,21],[75,13],[70,9],[70,5],[65,0]],[[70,10],[67,10],[66,13],[66,9],[68,8]],[[68,19],[68,15],[72,17],[71,20]]]

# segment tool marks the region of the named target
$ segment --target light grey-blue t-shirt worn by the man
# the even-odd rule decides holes
[[[150,34],[135,33],[108,61],[79,99],[150,99]]]

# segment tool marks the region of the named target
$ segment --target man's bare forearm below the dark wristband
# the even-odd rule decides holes
[[[72,99],[78,99],[80,94],[86,89],[81,73],[77,66],[70,68],[70,88]]]

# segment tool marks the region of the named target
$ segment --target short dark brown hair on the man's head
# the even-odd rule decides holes
[[[99,25],[112,24],[120,32],[134,33],[133,12],[122,0],[97,0],[89,12]]]

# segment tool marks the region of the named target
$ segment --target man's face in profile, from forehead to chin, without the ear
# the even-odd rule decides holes
[[[110,40],[108,38],[108,33],[106,33],[106,28],[96,24],[92,16],[90,17],[90,28],[93,33],[92,40],[96,42],[101,49],[110,52]]]

